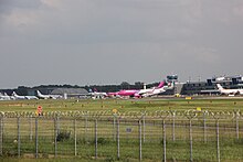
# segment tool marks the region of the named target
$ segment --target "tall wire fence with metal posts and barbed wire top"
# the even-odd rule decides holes
[[[0,154],[127,161],[242,161],[240,111],[1,112]]]

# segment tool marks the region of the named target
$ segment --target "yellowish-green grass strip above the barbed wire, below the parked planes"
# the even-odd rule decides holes
[[[104,100],[15,100],[0,101],[0,111],[125,111],[188,110],[200,107],[210,111],[232,111],[243,108],[243,99],[104,99]]]

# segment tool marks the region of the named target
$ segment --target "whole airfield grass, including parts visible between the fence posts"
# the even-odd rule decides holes
[[[187,111],[196,110],[200,107],[203,111],[212,112],[233,112],[241,111],[243,108],[243,99],[105,99],[105,100],[15,100],[15,101],[0,101],[0,111],[15,111],[15,112],[35,112],[38,106],[43,107],[43,112],[51,111],[88,111],[95,114],[98,111],[108,111],[113,114],[113,109],[117,109],[118,112],[127,117],[133,117],[133,114],[147,112],[151,116],[155,111],[170,110],[170,111]],[[138,140],[138,125],[134,122],[134,117],[129,118],[133,121],[120,121],[120,161],[138,161],[139,156],[139,140]],[[234,119],[223,120],[221,126],[221,161],[243,161],[243,122],[240,117],[239,128],[240,138],[235,140],[235,130],[232,128],[235,126]],[[94,120],[81,119],[77,121],[77,158],[74,158],[74,140],[59,142],[59,155],[53,159],[53,120],[40,120],[42,127],[40,127],[40,150],[44,152],[43,158],[36,161],[95,161],[94,160]],[[67,130],[73,132],[73,121],[62,120],[60,121],[61,130]],[[88,129],[85,130],[84,126],[88,125]],[[176,121],[176,134],[177,141],[172,140],[172,120],[167,121],[167,161],[189,161],[189,132],[188,120],[178,119]],[[193,159],[194,161],[216,161],[215,149],[215,121],[210,119],[208,125],[208,142],[203,141],[203,131],[201,128],[202,120],[197,118],[193,121]],[[32,161],[33,155],[28,156],[28,153],[21,154],[21,159],[15,159],[18,154],[18,145],[12,141],[17,139],[17,119],[6,119],[3,134],[3,149],[8,150],[7,154],[10,156],[3,156],[0,160],[3,161]],[[34,127],[34,126],[33,126]],[[127,133],[126,129],[133,130],[131,133]],[[33,128],[34,129],[34,128]],[[144,129],[144,128],[142,128]],[[134,131],[135,130],[135,131]],[[21,119],[21,149],[22,152],[34,152],[34,143],[29,140],[29,119]],[[102,137],[98,140],[98,159],[96,161],[118,161],[116,158],[116,140],[114,141],[114,128],[109,121],[98,122],[98,136]],[[146,142],[142,143],[142,161],[161,161],[163,144],[162,144],[162,128],[161,120],[146,121]],[[104,138],[105,137],[105,138]],[[87,138],[87,139],[85,139]],[[85,140],[84,140],[85,139]],[[13,151],[12,151],[13,150]],[[11,158],[13,155],[13,158]],[[64,158],[62,160],[61,158]],[[65,159],[67,158],[67,159]]]

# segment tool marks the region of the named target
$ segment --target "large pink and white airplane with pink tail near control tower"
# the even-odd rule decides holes
[[[149,88],[149,89],[127,89],[127,90],[119,90],[117,93],[108,93],[108,96],[129,96],[129,97],[144,97],[145,94],[152,94],[155,89],[160,89],[165,85],[165,82],[161,82],[158,87]]]

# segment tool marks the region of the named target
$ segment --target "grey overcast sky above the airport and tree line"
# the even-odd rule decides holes
[[[0,0],[0,88],[243,74],[242,0]]]

